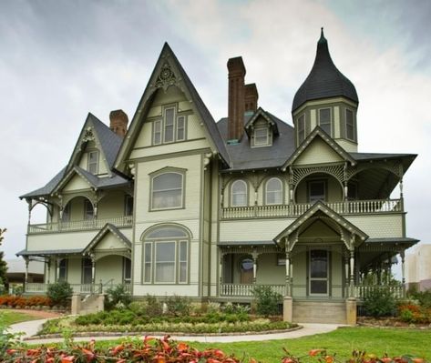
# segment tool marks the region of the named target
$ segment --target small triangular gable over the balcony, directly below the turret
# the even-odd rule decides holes
[[[284,163],[283,168],[292,165],[311,165],[347,161],[352,166],[356,164],[354,158],[339,146],[331,136],[326,134],[320,126],[303,140],[292,156]]]

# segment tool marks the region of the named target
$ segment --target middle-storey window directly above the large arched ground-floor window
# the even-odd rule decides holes
[[[183,175],[163,173],[153,176],[151,181],[151,209],[183,207]]]

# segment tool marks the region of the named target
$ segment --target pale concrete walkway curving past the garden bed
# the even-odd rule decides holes
[[[41,320],[30,320],[23,323],[12,325],[11,331],[14,333],[24,332],[22,338],[30,338],[36,335],[37,330],[47,319]],[[301,324],[303,328],[274,334],[253,334],[253,335],[238,335],[238,336],[175,336],[171,338],[180,341],[198,341],[202,343],[231,343],[237,341],[260,341],[260,340],[273,340],[273,339],[292,339],[301,338],[305,336],[312,336],[314,334],[323,334],[335,330],[342,325],[338,324]],[[157,337],[157,336],[156,336]],[[121,337],[77,337],[76,341],[89,341],[90,339],[95,340],[115,340]],[[63,338],[45,338],[45,339],[30,339],[27,341],[29,344],[46,344],[61,342]]]

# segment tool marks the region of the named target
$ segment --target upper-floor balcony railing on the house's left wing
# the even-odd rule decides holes
[[[116,217],[116,218],[94,218],[86,220],[73,220],[69,222],[45,223],[39,225],[29,225],[28,234],[36,235],[38,233],[58,233],[69,231],[81,231],[88,229],[100,229],[107,223],[111,223],[116,227],[131,227],[133,222],[132,216]]]

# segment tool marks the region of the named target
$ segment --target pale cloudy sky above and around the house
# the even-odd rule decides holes
[[[430,15],[427,0],[2,0],[0,248],[25,247],[18,197],[67,164],[88,112],[132,118],[165,41],[216,120],[227,116],[226,62],[241,55],[259,106],[292,125],[322,26],[359,96],[359,151],[418,154],[404,179],[407,236],[431,242]]]

